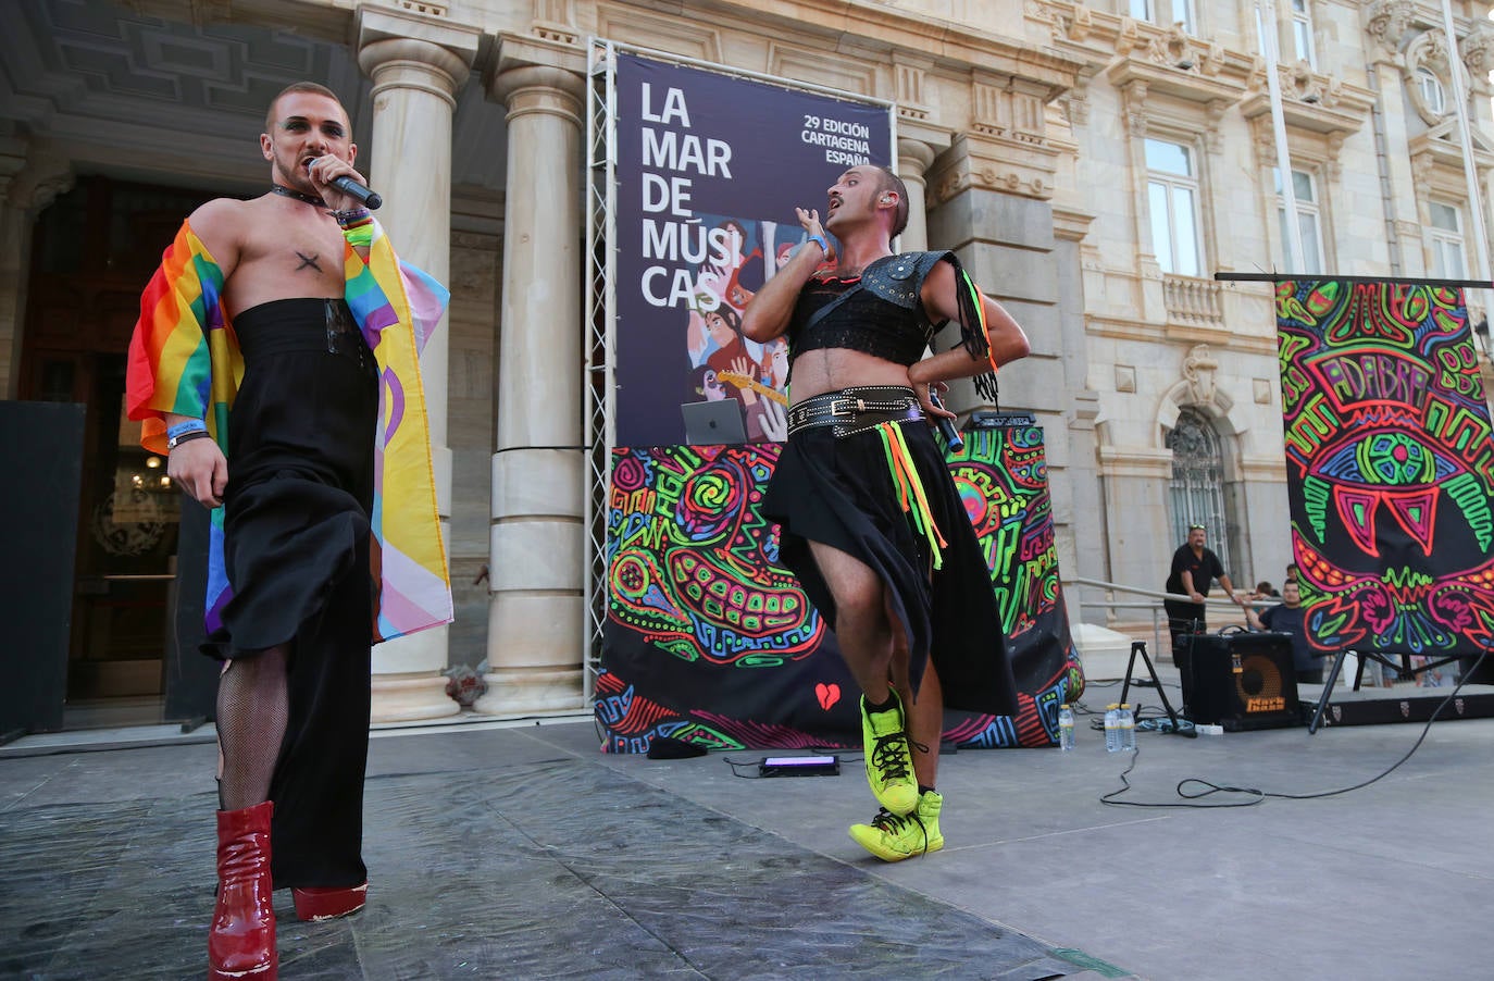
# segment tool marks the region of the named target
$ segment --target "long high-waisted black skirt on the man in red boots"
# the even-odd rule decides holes
[[[290,716],[270,778],[275,885],[357,885],[378,369],[342,301],[273,301],[233,327],[245,362],[224,493],[233,598],[203,649],[232,659],[288,646]]]

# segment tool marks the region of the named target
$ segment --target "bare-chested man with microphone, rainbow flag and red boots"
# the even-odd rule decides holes
[[[205,652],[223,755],[209,978],[278,972],[273,887],[360,909],[371,648],[451,621],[418,351],[448,293],[357,199],[338,97],[270,103],[270,191],[211,200],[140,298],[127,401],[212,510]]]

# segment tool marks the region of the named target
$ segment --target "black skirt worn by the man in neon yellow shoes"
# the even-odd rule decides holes
[[[887,586],[907,631],[914,692],[932,658],[946,706],[1016,715],[991,568],[970,516],[928,423],[898,425],[944,538],[941,567],[934,570],[928,540],[899,505],[881,437],[870,431],[837,440],[829,426],[795,432],[778,458],[763,513],[783,526],[780,558],[834,630],[835,601],[808,543],[855,556]]]

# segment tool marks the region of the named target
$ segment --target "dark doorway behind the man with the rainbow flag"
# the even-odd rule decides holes
[[[181,496],[124,416],[140,290],[203,191],[94,176],[37,220],[19,396],[85,405],[66,728],[161,721]]]

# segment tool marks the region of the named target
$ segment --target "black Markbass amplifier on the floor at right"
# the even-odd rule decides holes
[[[1291,634],[1192,634],[1182,639],[1192,667],[1183,691],[1188,718],[1227,731],[1301,724]]]

